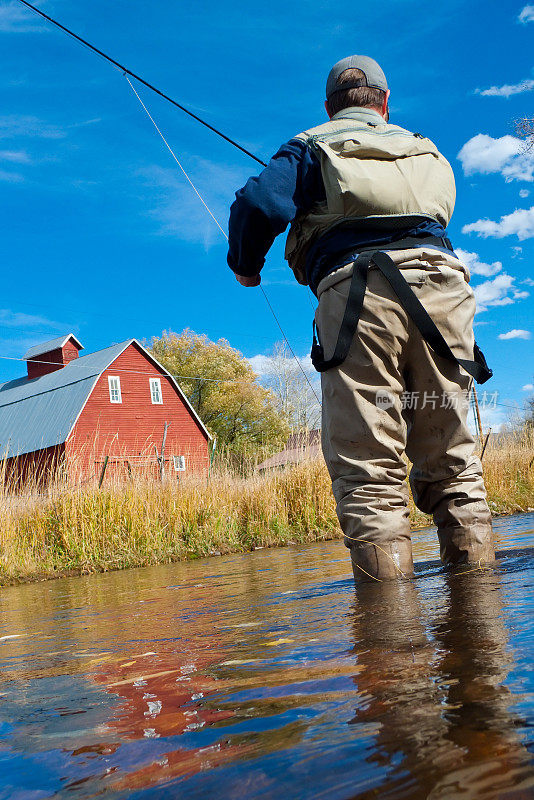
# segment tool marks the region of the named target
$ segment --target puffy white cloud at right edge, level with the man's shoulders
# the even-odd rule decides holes
[[[501,136],[493,139],[485,133],[477,133],[467,141],[458,159],[465,175],[500,173],[509,181],[534,181],[534,152],[525,149],[525,143],[517,136]]]

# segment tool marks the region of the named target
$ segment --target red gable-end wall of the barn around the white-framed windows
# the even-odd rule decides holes
[[[120,378],[122,403],[111,403],[108,376]],[[163,404],[151,402],[150,378],[161,379]],[[161,449],[165,422],[165,467],[168,476],[205,473],[208,439],[172,382],[135,344],[102,373],[66,444],[71,472],[97,476],[105,456],[106,475],[157,474],[156,448]],[[183,455],[186,472],[175,473],[172,456]]]

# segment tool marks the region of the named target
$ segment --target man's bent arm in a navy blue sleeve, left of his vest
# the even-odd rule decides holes
[[[257,178],[236,192],[230,209],[228,265],[243,286],[257,286],[274,239],[300,211],[325,198],[321,167],[298,139],[282,145]]]

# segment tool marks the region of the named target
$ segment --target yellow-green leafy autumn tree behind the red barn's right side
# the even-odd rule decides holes
[[[273,393],[257,382],[247,359],[225,339],[186,329],[164,331],[148,346],[176,376],[210,433],[234,455],[263,455],[284,445],[289,426]]]

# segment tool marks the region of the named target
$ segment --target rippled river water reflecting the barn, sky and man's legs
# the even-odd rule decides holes
[[[340,542],[0,590],[0,798],[530,798],[534,515],[354,589]]]

